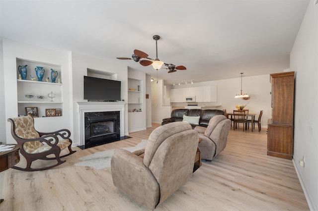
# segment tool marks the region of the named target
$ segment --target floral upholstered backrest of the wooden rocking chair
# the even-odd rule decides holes
[[[22,139],[35,139],[40,135],[34,129],[32,116],[22,116],[18,118],[12,118],[14,122],[14,132]]]

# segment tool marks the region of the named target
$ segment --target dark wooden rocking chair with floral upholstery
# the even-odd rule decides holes
[[[71,132],[67,129],[50,133],[38,132],[34,129],[32,116],[9,118],[8,121],[11,122],[11,134],[15,141],[21,145],[20,153],[26,159],[25,168],[13,166],[14,169],[23,171],[46,170],[64,163],[66,160],[61,160],[61,158],[76,152],[71,149]],[[61,140],[59,140],[59,137],[61,137]],[[70,153],[60,157],[60,152],[67,147]],[[47,157],[52,154],[55,157]],[[37,159],[56,159],[57,163],[42,168],[31,168],[32,161]]]

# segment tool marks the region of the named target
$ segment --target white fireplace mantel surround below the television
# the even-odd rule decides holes
[[[85,145],[85,112],[120,111],[120,136],[125,136],[125,102],[76,102],[79,112],[79,145]]]

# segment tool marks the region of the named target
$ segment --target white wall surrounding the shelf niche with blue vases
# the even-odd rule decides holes
[[[63,83],[63,116],[34,118],[35,129],[41,132],[51,132],[62,128],[71,128],[71,95],[69,78],[68,53],[49,50],[37,46],[31,46],[3,39],[3,77],[4,80],[4,119],[17,117],[17,67],[16,58],[61,65],[61,77]],[[28,69],[29,71],[34,71]],[[47,70],[48,71],[48,70]],[[35,71],[34,71],[35,73]],[[3,97],[1,96],[1,101]],[[16,143],[10,133],[10,123],[6,122],[6,143]],[[73,134],[72,134],[73,135]],[[71,136],[73,139],[73,136]]]

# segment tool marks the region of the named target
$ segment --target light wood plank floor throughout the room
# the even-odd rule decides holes
[[[76,147],[77,153],[50,170],[1,172],[0,198],[4,202],[0,211],[144,210],[114,187],[110,168],[96,170],[74,164],[91,153],[135,146],[155,127],[130,133],[131,139],[86,150]],[[267,156],[266,137],[265,129],[231,129],[226,149],[212,162],[203,162],[156,210],[309,210],[292,161]],[[21,158],[18,165],[23,164]]]

